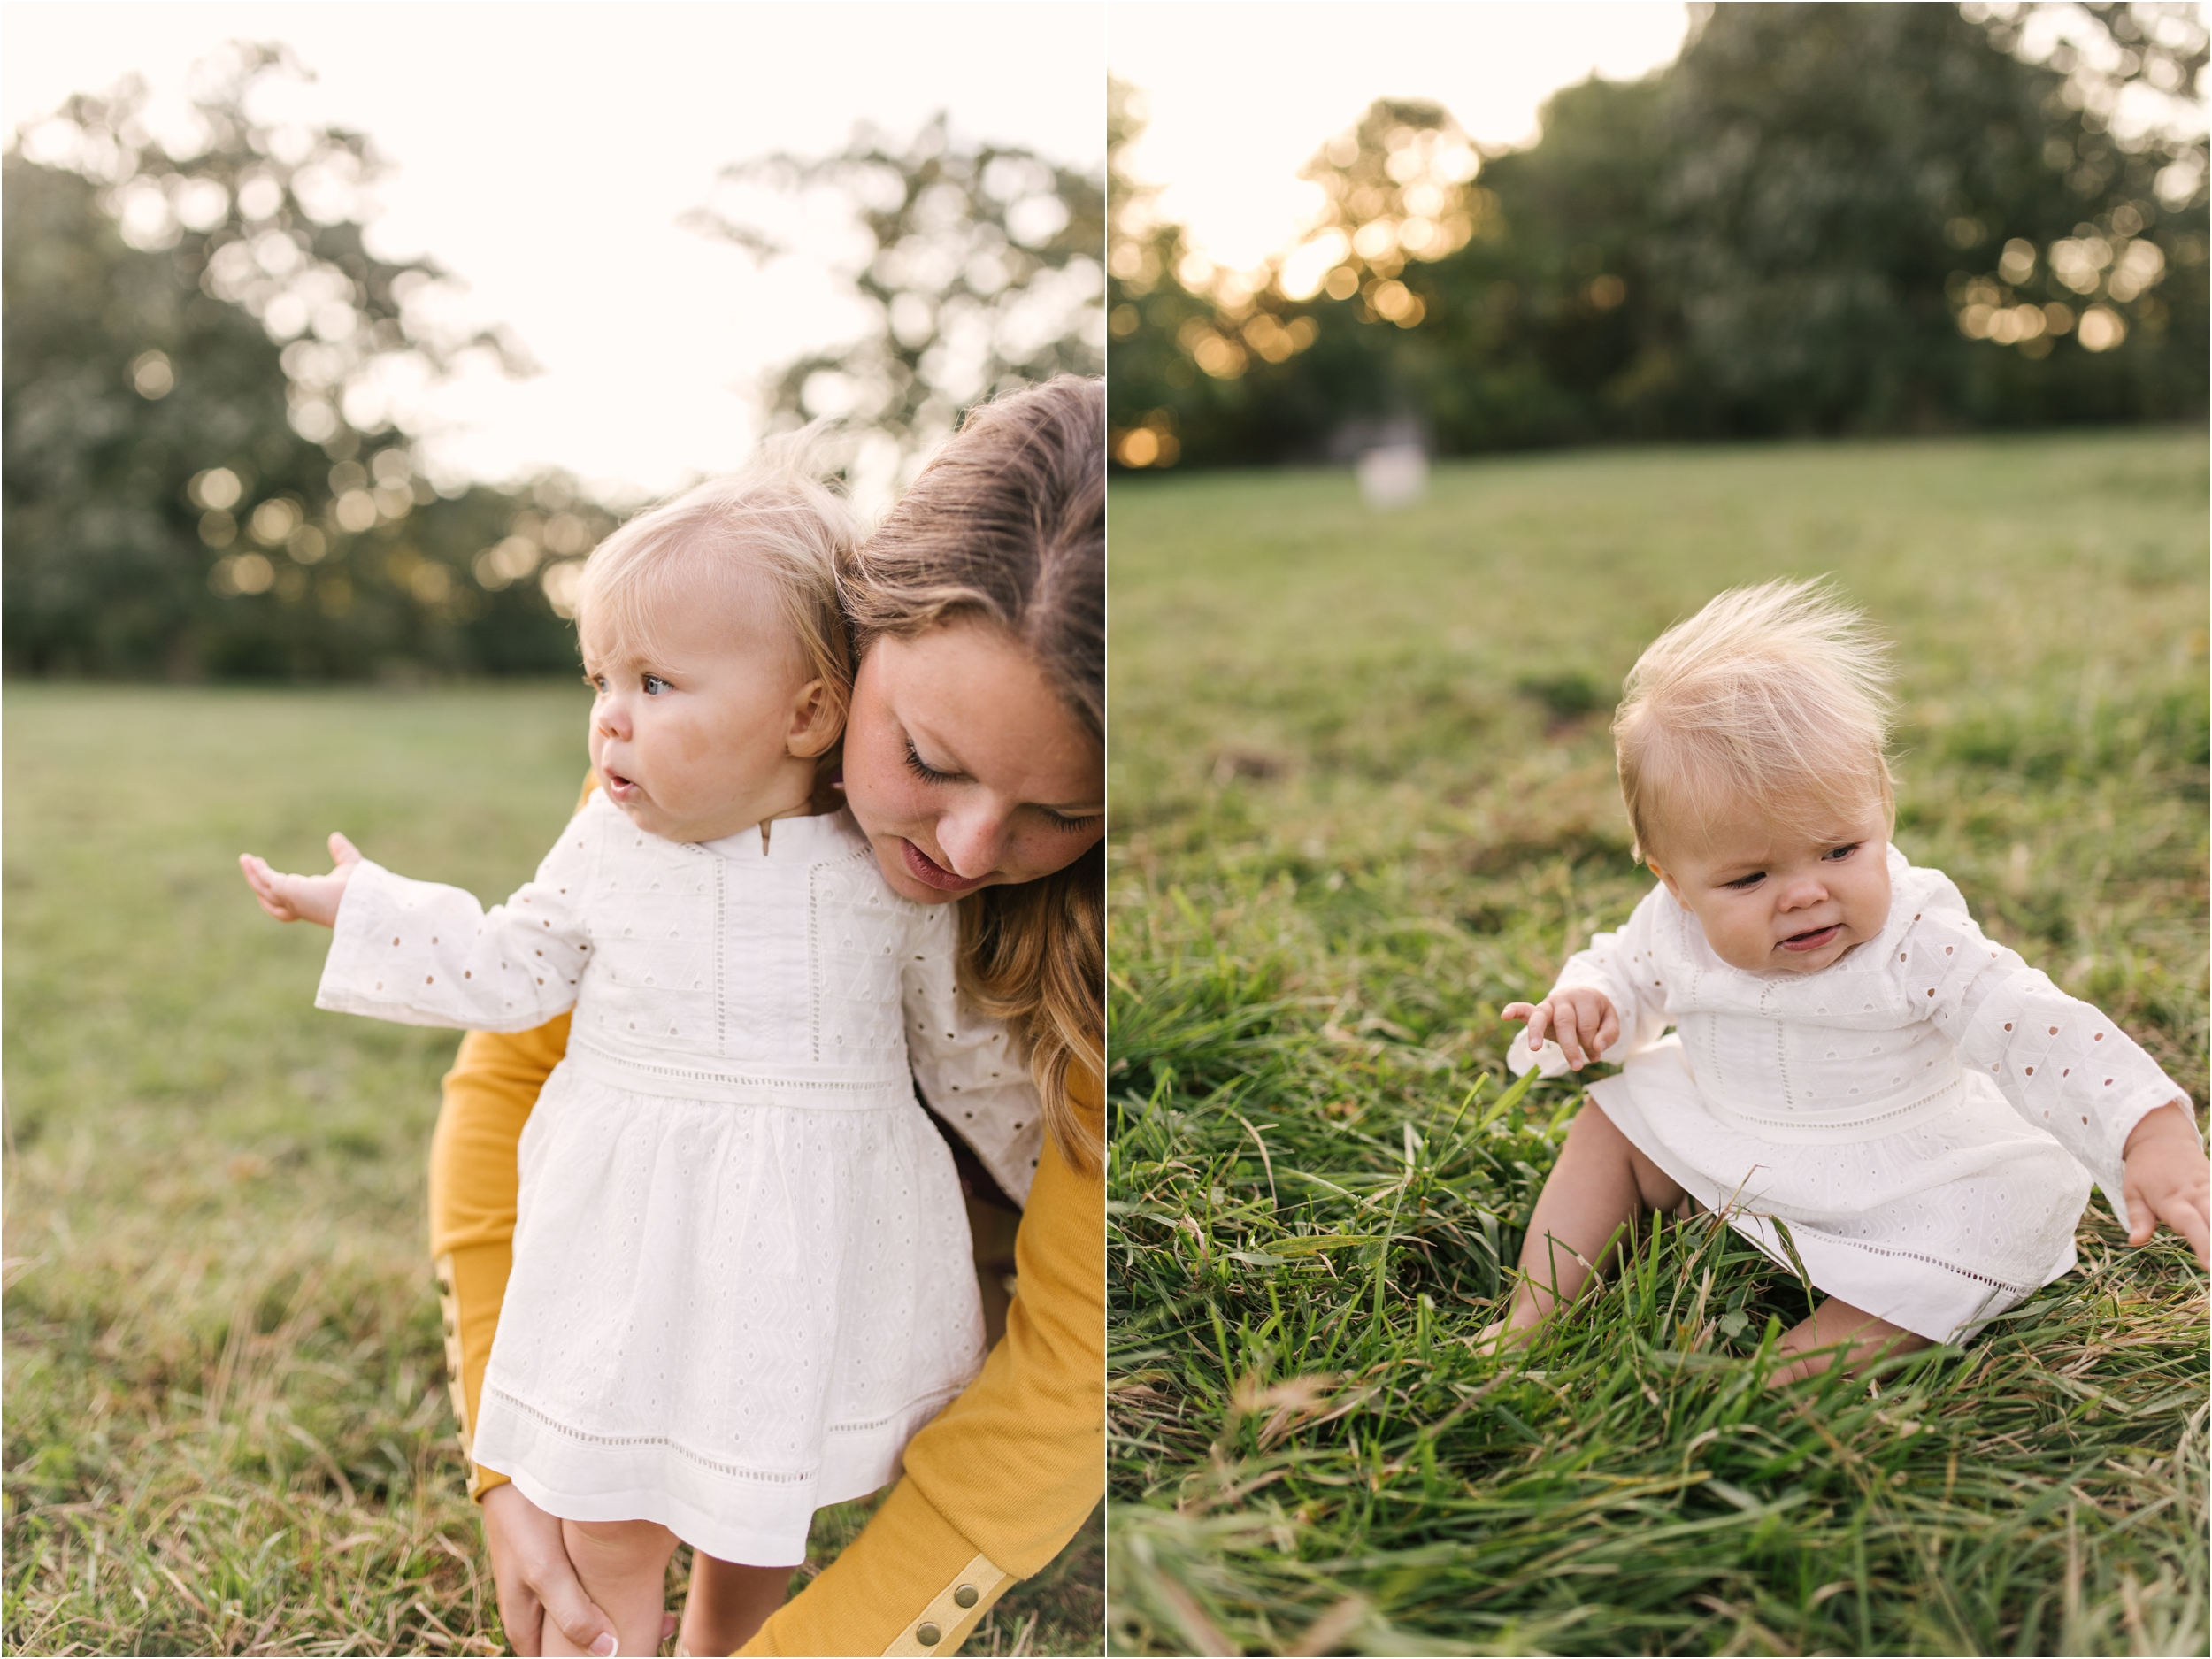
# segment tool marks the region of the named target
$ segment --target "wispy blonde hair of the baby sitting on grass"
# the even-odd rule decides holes
[[[1893,816],[1887,655],[1825,577],[1730,588],[1659,635],[1613,714],[1635,856],[1745,807],[1796,830]]]

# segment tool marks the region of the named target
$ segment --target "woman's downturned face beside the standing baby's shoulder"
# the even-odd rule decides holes
[[[1106,832],[1106,757],[998,628],[878,639],[845,726],[845,801],[885,880],[945,905],[1035,880]]]

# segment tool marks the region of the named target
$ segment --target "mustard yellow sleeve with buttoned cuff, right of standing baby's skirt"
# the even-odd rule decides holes
[[[1093,1079],[1077,1095],[1099,1128]],[[1006,1338],[907,1447],[907,1475],[748,1655],[953,1652],[1075,1537],[1106,1489],[1106,1177],[1046,1139]]]

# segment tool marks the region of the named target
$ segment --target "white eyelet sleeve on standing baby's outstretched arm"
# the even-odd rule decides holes
[[[504,905],[361,860],[314,1006],[416,1026],[531,1031],[575,1006],[593,836],[571,825]]]

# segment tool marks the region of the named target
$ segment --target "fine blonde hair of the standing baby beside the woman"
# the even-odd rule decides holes
[[[807,679],[830,688],[843,719],[852,703],[852,650],[836,566],[860,544],[865,522],[830,484],[834,434],[816,422],[763,442],[734,473],[710,478],[608,535],[584,560],[575,622],[604,628],[650,657],[655,617],[684,604],[701,575],[761,577]]]

